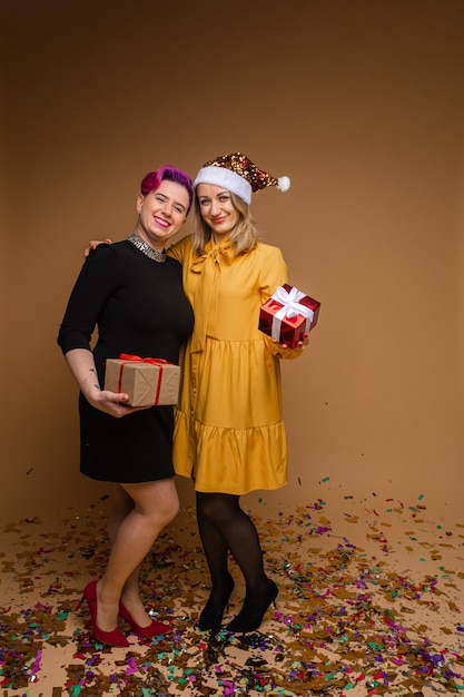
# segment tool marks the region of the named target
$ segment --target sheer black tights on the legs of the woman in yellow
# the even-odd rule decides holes
[[[229,493],[197,492],[198,529],[211,575],[211,595],[224,593],[229,581],[227,557],[241,569],[247,596],[259,596],[268,580],[257,530],[240,508],[239,497]]]

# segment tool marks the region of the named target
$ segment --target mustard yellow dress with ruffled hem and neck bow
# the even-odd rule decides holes
[[[244,494],[287,482],[280,357],[296,357],[258,330],[259,307],[287,282],[277,247],[258,243],[235,256],[228,240],[205,254],[191,237],[170,247],[182,264],[195,328],[180,365],[174,432],[177,474],[201,492]]]

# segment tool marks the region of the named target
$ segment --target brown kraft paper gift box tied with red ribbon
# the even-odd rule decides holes
[[[107,359],[105,390],[126,392],[130,406],[177,404],[180,366],[162,359],[140,359],[121,354]]]

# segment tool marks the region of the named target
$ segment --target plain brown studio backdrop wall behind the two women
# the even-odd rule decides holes
[[[254,212],[293,284],[322,301],[307,353],[284,365],[289,483],[265,502],[460,507],[461,0],[1,12],[1,516],[105,494],[78,473],[77,389],[56,345],[82,249],[131,232],[148,170],[194,175],[234,150],[292,177]]]

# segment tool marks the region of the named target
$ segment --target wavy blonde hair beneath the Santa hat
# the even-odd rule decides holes
[[[243,198],[229,192],[230,200],[238,213],[237,225],[231,230],[229,238],[236,255],[250,252],[258,242],[258,228],[251,215],[251,210]],[[200,213],[198,196],[195,196],[192,206],[191,233],[194,249],[198,255],[205,252],[205,245],[211,237],[211,228],[205,223]]]

